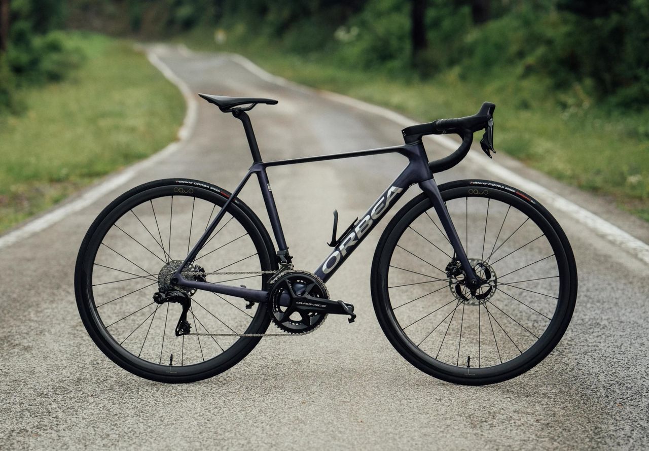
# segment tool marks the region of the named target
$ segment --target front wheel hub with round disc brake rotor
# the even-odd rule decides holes
[[[461,269],[459,262],[448,264],[448,288],[458,302],[469,306],[485,304],[496,293],[498,276],[488,262],[478,258],[469,258],[469,263],[478,276],[478,285],[469,287],[467,276]]]

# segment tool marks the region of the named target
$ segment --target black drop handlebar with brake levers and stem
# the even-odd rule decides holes
[[[454,165],[461,162],[467,156],[471,144],[473,143],[473,134],[478,130],[485,129],[485,134],[480,144],[482,150],[491,158],[489,151],[493,149],[493,112],[496,105],[491,102],[485,102],[480,110],[473,116],[458,117],[455,119],[437,119],[425,124],[412,125],[401,130],[406,144],[421,141],[422,136],[430,134],[458,134],[462,138],[462,143],[452,154],[430,162],[428,166],[433,173],[446,171]],[[495,151],[494,151],[495,152]]]

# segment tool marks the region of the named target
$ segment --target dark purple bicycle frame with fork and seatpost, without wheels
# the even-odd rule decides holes
[[[192,289],[202,289],[204,291],[212,291],[213,293],[219,293],[223,295],[230,295],[234,297],[245,298],[253,300],[256,302],[263,302],[267,299],[268,292],[265,290],[251,289],[246,287],[234,287],[224,284],[214,284],[210,282],[199,282],[195,280],[187,280],[182,276],[182,269],[196,258],[202,247],[205,245],[206,241],[212,235],[215,228],[225,215],[225,212],[230,206],[230,203],[236,199],[241,192],[241,189],[248,182],[251,175],[256,175],[260,188],[262,191],[263,202],[265,204],[266,212],[268,214],[271,226],[273,228],[273,234],[275,235],[275,241],[278,246],[278,258],[288,258],[288,263],[290,262],[290,256],[288,254],[288,245],[286,245],[286,239],[284,238],[284,231],[282,230],[282,224],[277,212],[275,205],[275,199],[273,197],[273,191],[271,190],[271,184],[269,183],[268,176],[266,173],[267,167],[274,166],[284,166],[284,165],[293,165],[293,164],[302,164],[302,163],[312,163],[312,162],[321,162],[326,160],[342,160],[345,158],[355,158],[359,156],[373,156],[386,153],[398,153],[406,156],[408,158],[408,165],[404,170],[398,175],[397,178],[390,184],[390,186],[384,190],[383,194],[374,201],[372,206],[361,216],[360,220],[354,224],[352,230],[350,230],[340,241],[337,243],[336,248],[331,252],[327,258],[324,259],[323,263],[315,270],[315,275],[317,275],[323,282],[326,282],[331,278],[334,273],[343,265],[345,260],[358,248],[363,239],[372,232],[374,227],[383,219],[387,212],[397,203],[398,199],[412,186],[413,184],[419,184],[419,188],[426,193],[426,195],[431,199],[432,204],[437,212],[439,221],[443,226],[445,232],[447,233],[448,239],[453,246],[455,251],[455,257],[460,262],[465,274],[469,274],[468,283],[469,286],[477,285],[478,279],[474,273],[471,264],[467,258],[467,254],[459,240],[458,232],[453,225],[450,215],[444,201],[439,193],[437,188],[437,183],[433,178],[430,167],[428,167],[428,156],[424,149],[424,145],[421,141],[415,143],[408,143],[396,147],[382,147],[378,149],[368,149],[363,151],[355,152],[344,152],[339,154],[328,154],[321,156],[308,156],[303,158],[293,158],[289,160],[277,160],[273,162],[263,162],[257,147],[256,139],[254,137],[254,132],[252,131],[252,126],[250,119],[245,114],[245,112],[236,110],[233,112],[234,116],[240,119],[243,122],[243,127],[245,128],[246,136],[249,141],[249,145],[252,152],[253,164],[246,173],[246,175],[241,179],[238,186],[228,200],[225,202],[219,213],[215,216],[210,226],[202,234],[199,241],[194,245],[191,252],[185,258],[184,262],[176,273],[173,276],[172,282],[184,287],[190,287]]]

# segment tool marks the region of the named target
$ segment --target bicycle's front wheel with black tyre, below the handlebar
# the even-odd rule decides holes
[[[508,380],[563,336],[577,294],[570,243],[521,191],[486,180],[441,185],[479,289],[463,282],[432,202],[421,194],[387,225],[374,254],[374,310],[415,367],[456,384]]]

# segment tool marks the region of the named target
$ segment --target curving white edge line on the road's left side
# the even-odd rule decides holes
[[[104,180],[104,182],[101,182],[94,188],[88,189],[88,191],[81,195],[79,199],[75,199],[72,202],[55,208],[49,213],[45,213],[41,217],[37,217],[33,221],[29,221],[29,223],[17,228],[16,230],[13,230],[12,232],[9,232],[4,236],[1,236],[0,249],[17,243],[18,241],[21,241],[22,239],[25,239],[29,236],[32,236],[33,234],[36,234],[41,230],[44,230],[45,228],[58,223],[58,221],[61,221],[67,215],[78,212],[79,210],[82,210],[82,208],[86,208],[87,206],[93,204],[93,202],[97,201],[106,193],[109,193],[113,189],[116,189],[122,184],[128,182],[142,169],[151,167],[151,165],[156,164],[163,158],[177,151],[180,147],[182,147],[182,145],[184,145],[184,142],[190,138],[191,134],[193,134],[194,128],[196,127],[196,121],[198,117],[198,103],[194,98],[194,94],[191,92],[189,86],[187,86],[184,81],[178,78],[177,75],[175,75],[175,73],[173,73],[173,71],[169,69],[169,66],[164,64],[164,62],[162,62],[162,60],[158,58],[158,56],[155,54],[155,49],[147,51],[147,58],[149,58],[149,61],[151,62],[151,64],[153,64],[153,66],[155,66],[160,72],[162,72],[162,75],[164,75],[167,80],[178,87],[183,97],[185,98],[187,110],[182,121],[182,126],[178,130],[178,141],[170,143],[169,145],[167,145],[167,147],[162,149],[162,151],[156,152],[146,160],[142,160],[141,162],[130,165],[129,167],[127,167],[127,169],[124,169],[116,175],[109,177],[107,180]]]

